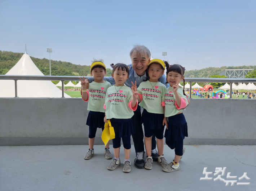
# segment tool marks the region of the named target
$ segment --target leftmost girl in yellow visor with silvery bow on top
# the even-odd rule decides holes
[[[104,117],[105,110],[103,108],[105,103],[107,88],[111,87],[111,84],[104,81],[103,78],[106,74],[106,66],[103,64],[103,60],[97,61],[93,60],[91,65],[91,75],[94,81],[89,85],[89,89],[86,90],[87,83],[84,78],[81,80],[81,94],[85,102],[88,101],[89,111],[86,125],[89,126],[89,150],[84,156],[84,159],[91,159],[94,155],[94,139],[96,135],[97,128],[104,130]],[[112,155],[109,151],[109,143],[105,146],[104,155],[106,159],[111,159]]]

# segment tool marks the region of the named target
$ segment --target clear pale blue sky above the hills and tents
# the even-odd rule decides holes
[[[0,1],[0,50],[130,64],[134,44],[187,70],[256,65],[256,1]]]

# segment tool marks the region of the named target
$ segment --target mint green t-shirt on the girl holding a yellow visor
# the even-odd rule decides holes
[[[132,100],[132,89],[123,85],[112,86],[107,89],[106,96],[106,117],[107,119],[129,119],[133,116],[133,111],[128,107],[128,103]]]

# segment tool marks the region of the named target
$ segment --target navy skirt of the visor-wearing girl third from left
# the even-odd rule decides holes
[[[147,110],[143,109],[141,124],[143,123],[144,128],[147,129],[162,129],[164,114],[159,113],[149,113]]]

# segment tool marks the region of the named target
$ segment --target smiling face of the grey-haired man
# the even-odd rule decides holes
[[[150,62],[150,58],[146,55],[146,53],[138,53],[138,52],[133,52],[132,56],[132,68],[133,70],[136,71],[138,76],[143,76],[146,72],[147,65]]]

